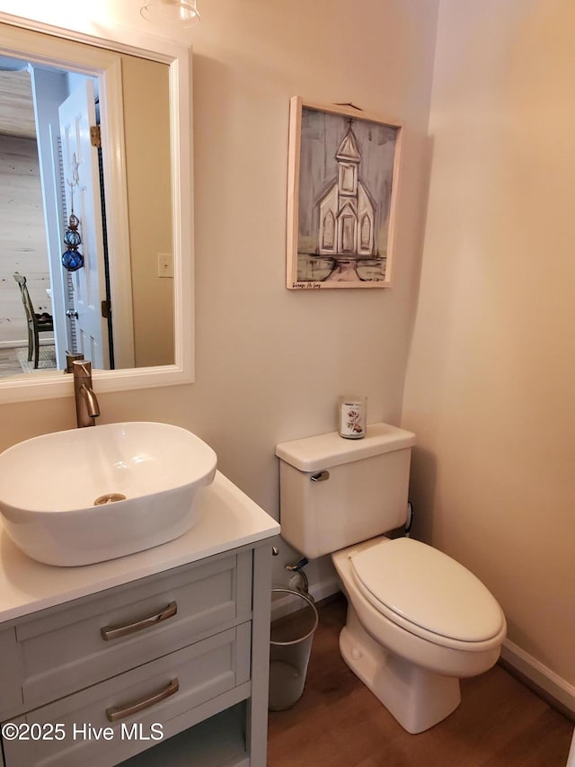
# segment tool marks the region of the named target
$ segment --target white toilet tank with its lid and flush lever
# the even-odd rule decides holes
[[[281,442],[282,538],[321,557],[403,525],[415,434],[370,424],[361,440],[337,432]]]

